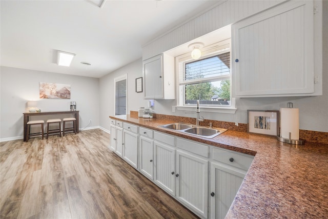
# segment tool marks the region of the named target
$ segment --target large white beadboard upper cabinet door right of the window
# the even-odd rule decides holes
[[[291,1],[232,26],[233,96],[314,92],[312,1]]]

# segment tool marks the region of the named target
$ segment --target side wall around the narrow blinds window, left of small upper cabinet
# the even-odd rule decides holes
[[[135,79],[142,76],[142,61],[141,58],[130,63],[104,77],[100,78],[100,126],[105,130],[110,130],[109,116],[115,115],[114,110],[114,78],[127,74],[127,88],[128,88],[128,109],[130,111],[137,111],[139,107],[147,106],[147,101],[144,99],[144,93],[135,92]]]

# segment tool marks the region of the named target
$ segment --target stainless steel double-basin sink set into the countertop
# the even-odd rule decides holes
[[[206,137],[206,138],[213,138],[225,131],[227,129],[220,129],[220,128],[207,128],[203,126],[195,126],[191,124],[185,124],[185,123],[172,123],[167,125],[159,126],[161,128],[167,128],[175,131],[180,131],[187,134],[193,134],[200,137]]]

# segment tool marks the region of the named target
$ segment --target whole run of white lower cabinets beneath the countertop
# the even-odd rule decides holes
[[[199,217],[226,216],[254,156],[113,123],[115,153]]]

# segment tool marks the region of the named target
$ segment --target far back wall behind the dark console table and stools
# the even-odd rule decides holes
[[[79,110],[79,128],[99,126],[99,79],[1,66],[1,141],[23,137],[23,112],[28,101],[42,111],[69,111],[70,101]],[[71,85],[71,99],[40,99],[39,83]]]

